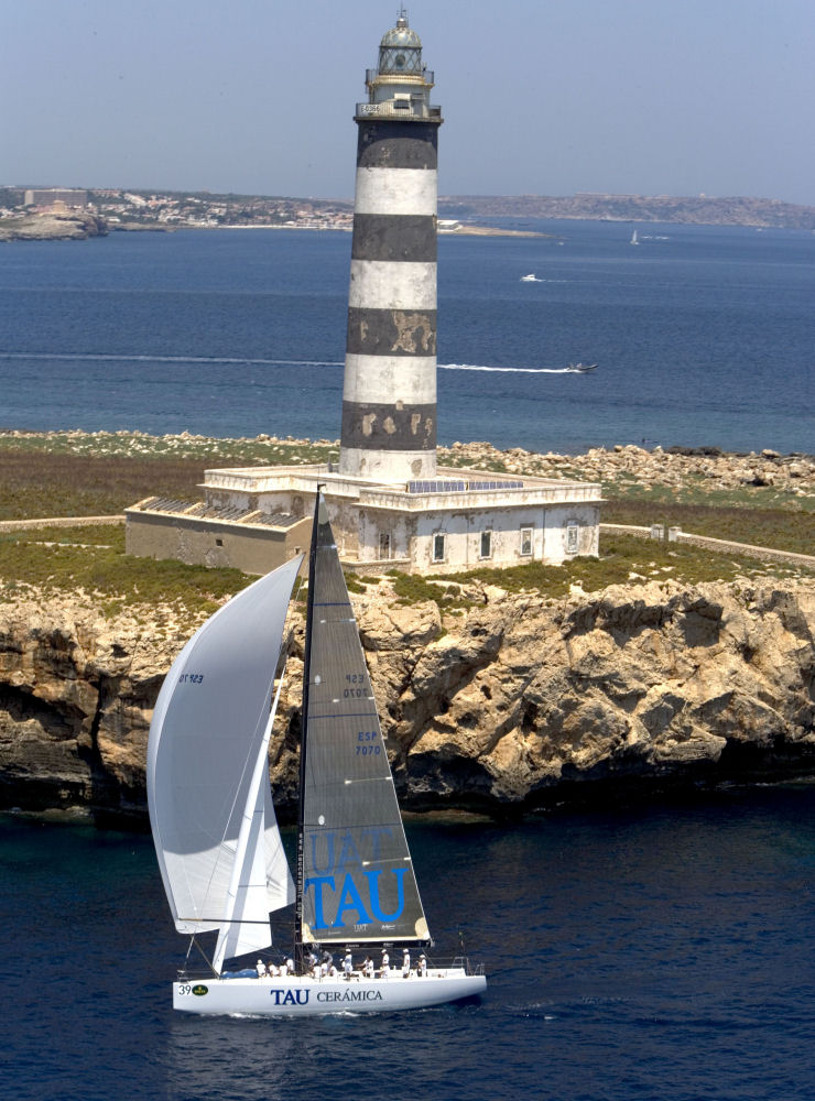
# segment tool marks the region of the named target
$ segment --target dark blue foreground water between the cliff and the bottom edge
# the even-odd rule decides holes
[[[478,1005],[187,1018],[146,837],[0,818],[14,1101],[812,1101],[815,788],[409,837]]]

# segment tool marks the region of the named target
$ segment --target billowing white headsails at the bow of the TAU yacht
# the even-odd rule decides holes
[[[229,923],[229,890],[244,813],[262,806],[254,826],[263,838],[257,860],[265,866],[265,902],[258,924],[242,930],[241,951],[268,945],[268,914],[294,901],[269,784],[261,783],[253,796],[252,783],[301,562],[298,556],[280,566],[207,620],[173,663],[150,727],[150,822],[180,933]],[[257,898],[252,908],[258,909]]]

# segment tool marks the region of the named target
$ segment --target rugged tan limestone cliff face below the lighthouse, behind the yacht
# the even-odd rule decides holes
[[[675,581],[566,600],[478,589],[444,615],[383,582],[354,597],[403,806],[502,813],[815,764],[815,595],[805,581]],[[295,613],[295,615],[298,613]],[[143,816],[152,707],[197,626],[172,609],[0,607],[0,804]],[[303,624],[270,751],[294,806]]]

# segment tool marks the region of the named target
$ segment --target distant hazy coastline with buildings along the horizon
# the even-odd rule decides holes
[[[673,222],[815,231],[815,207],[779,199],[707,195],[457,195],[438,200],[439,231],[540,236],[509,219]],[[120,188],[0,187],[0,241],[85,239],[116,231],[174,229],[350,230],[346,199]]]

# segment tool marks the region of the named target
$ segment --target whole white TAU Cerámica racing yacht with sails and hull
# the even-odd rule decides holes
[[[303,556],[215,613],[174,662],[156,701],[148,799],[159,866],[187,966],[173,1006],[265,1016],[409,1010],[487,989],[464,957],[425,960],[432,940],[404,835],[370,677],[322,493],[309,552],[296,869],[269,784],[275,671]],[[269,956],[270,914],[294,903],[293,948]],[[217,930],[209,953],[200,942]],[[413,960],[391,971],[389,952]],[[330,951],[345,970],[319,966]],[[382,953],[372,967],[371,952]],[[420,955],[421,951],[421,955]],[[368,966],[359,969],[365,952]],[[354,964],[354,955],[357,966]],[[236,962],[237,961],[237,962]],[[316,961],[316,962],[315,962]]]

